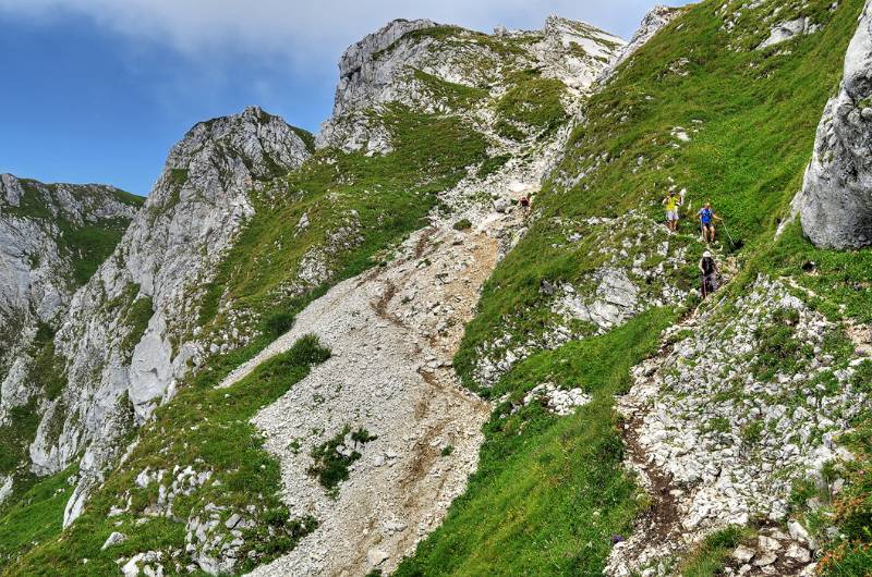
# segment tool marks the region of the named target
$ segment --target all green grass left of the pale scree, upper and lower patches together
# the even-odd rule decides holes
[[[275,496],[279,487],[278,463],[261,449],[247,419],[283,393],[296,380],[296,373],[291,371],[287,379],[271,376],[264,380],[258,376],[271,375],[276,363],[281,367],[281,358],[270,361],[257,376],[227,391],[234,401],[234,392],[244,395],[235,402],[225,401],[226,391],[216,392],[211,386],[287,330],[294,315],[331,284],[377,265],[385,250],[425,224],[424,217],[437,204],[438,192],[455,185],[468,167],[475,169],[487,158],[484,137],[457,118],[393,107],[382,120],[391,132],[395,152],[365,157],[319,151],[301,170],[282,177],[276,193],[255,194],[257,212],[221,262],[218,277],[204,297],[201,321],[207,330],[226,327],[227,319],[219,312],[218,304],[230,298],[237,309],[262,319],[263,332],[244,348],[213,357],[195,378],[182,383],[179,395],[158,410],[156,422],[141,431],[140,445],[123,470],[109,476],[71,530],[58,537],[57,524],[46,526],[45,541],[29,551],[24,541],[0,540],[0,552],[21,556],[3,575],[39,575],[48,572],[48,567],[62,567],[69,574],[111,575],[117,570],[113,560],[121,555],[182,548],[184,523],[155,519],[131,531],[129,535],[135,538],[123,545],[108,553],[99,552],[112,530],[124,530],[116,528],[118,518],[107,519],[107,511],[123,504],[121,495],[133,488],[133,478],[146,466],[172,469],[173,465],[184,466],[202,458],[203,464],[195,468],[208,466],[216,471],[214,478],[222,480],[221,489],[207,486],[181,508],[174,506],[182,520],[197,504],[202,507],[211,501],[241,506],[255,494],[266,495],[256,503],[264,507],[261,513],[264,519],[281,519],[280,512],[287,510]],[[301,295],[281,297],[281,287],[296,278],[306,251],[328,244],[329,235],[338,228],[352,225],[349,219],[352,210],[356,211],[359,222],[359,226],[354,225],[355,241],[340,246],[332,255],[331,277]],[[311,224],[298,235],[294,225],[303,213],[307,213]],[[190,427],[199,429],[193,432]],[[203,446],[197,447],[193,441]],[[50,480],[43,481],[46,482]],[[135,506],[122,518],[130,521],[141,514],[155,500],[156,490],[155,484],[150,492],[134,490]],[[64,505],[65,500],[62,503],[57,500],[43,506],[53,507],[52,515],[61,518]],[[278,517],[272,511],[279,512]],[[8,511],[0,527],[23,523],[22,514],[24,511],[19,508]],[[265,533],[267,529],[268,521],[264,521],[259,527],[264,535],[246,539],[255,543],[264,560],[293,547],[293,539],[269,537]],[[82,565],[83,557],[89,558],[87,567]]]

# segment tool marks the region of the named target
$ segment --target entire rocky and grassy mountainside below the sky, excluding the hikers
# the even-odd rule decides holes
[[[3,174],[0,575],[870,575],[870,10],[396,20]]]

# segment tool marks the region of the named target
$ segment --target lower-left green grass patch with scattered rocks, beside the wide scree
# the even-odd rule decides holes
[[[39,544],[23,551],[4,567],[2,575],[117,575],[114,560],[148,550],[184,548],[185,521],[207,503],[227,507],[245,515],[245,507],[254,505],[255,525],[245,529],[246,561],[238,568],[251,568],[254,562],[245,555],[253,551],[263,561],[269,561],[291,550],[312,531],[316,523],[310,518],[291,519],[287,507],[276,494],[280,486],[278,463],[263,449],[250,419],[265,404],[272,403],[306,375],[313,365],[323,363],[330,353],[315,336],[304,336],[294,346],[278,355],[228,389],[215,384],[237,365],[222,370],[203,371],[180,388],[172,403],[159,408],[155,419],[138,434],[138,444],[129,459],[109,476],[107,483],[93,495],[82,517],[75,525],[60,533],[60,523],[45,524],[40,529]],[[189,495],[180,494],[173,501],[173,518],[149,517],[144,512],[157,502],[158,482],[145,488],[133,481],[148,468],[168,472],[164,483],[171,482],[175,465],[191,465],[197,472],[211,471],[209,479]],[[62,518],[65,499],[40,499],[52,494],[60,486],[60,477],[43,480],[32,489],[33,514],[46,518]],[[55,488],[55,489],[52,489]],[[69,493],[69,490],[66,490]],[[41,496],[40,496],[41,495]],[[111,507],[123,507],[125,495],[131,507],[124,513],[108,517]],[[69,496],[69,494],[68,494]],[[62,504],[59,504],[61,503]],[[0,551],[15,553],[24,544],[27,531],[43,527],[27,526],[24,503],[15,505],[2,520],[21,524],[16,533],[0,537]],[[60,512],[60,513],[59,513]],[[52,517],[52,515],[55,515]],[[137,524],[137,518],[148,519]],[[173,520],[181,519],[181,520]],[[10,525],[14,527],[15,525]],[[135,530],[133,529],[135,527]],[[124,531],[130,539],[111,550],[100,547],[112,531]],[[87,565],[82,558],[88,558]]]

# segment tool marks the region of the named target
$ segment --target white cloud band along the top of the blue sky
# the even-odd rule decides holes
[[[320,69],[364,34],[396,17],[429,17],[477,29],[538,27],[557,13],[629,35],[653,0],[0,0],[0,15],[86,15],[136,42],[201,59],[226,53],[288,58]]]

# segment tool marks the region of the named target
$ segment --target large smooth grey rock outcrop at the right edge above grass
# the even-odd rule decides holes
[[[845,57],[838,95],[824,110],[797,204],[820,247],[872,244],[872,14],[867,3]]]

